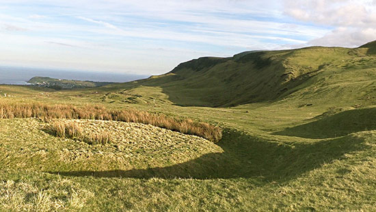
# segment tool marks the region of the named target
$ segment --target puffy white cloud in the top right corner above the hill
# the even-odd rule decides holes
[[[299,21],[333,28],[308,44],[358,47],[376,40],[375,3],[375,0],[285,0],[284,12]]]

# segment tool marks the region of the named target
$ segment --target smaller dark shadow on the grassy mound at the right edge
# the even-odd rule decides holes
[[[351,109],[273,133],[306,138],[331,138],[376,129],[376,108]]]

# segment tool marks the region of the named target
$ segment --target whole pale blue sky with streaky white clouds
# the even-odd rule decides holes
[[[0,65],[159,75],[203,56],[376,40],[376,0],[0,0]]]

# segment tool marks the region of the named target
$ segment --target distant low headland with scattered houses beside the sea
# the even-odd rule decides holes
[[[51,77],[33,77],[29,79],[27,83],[38,85],[40,87],[53,88],[56,90],[72,88],[92,88],[109,84],[108,82],[54,79]]]

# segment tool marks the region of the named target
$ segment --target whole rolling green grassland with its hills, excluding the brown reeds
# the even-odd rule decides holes
[[[145,124],[0,120],[0,211],[376,211],[376,42],[202,57],[100,88],[0,85],[2,103],[96,104],[217,124],[219,142]]]

